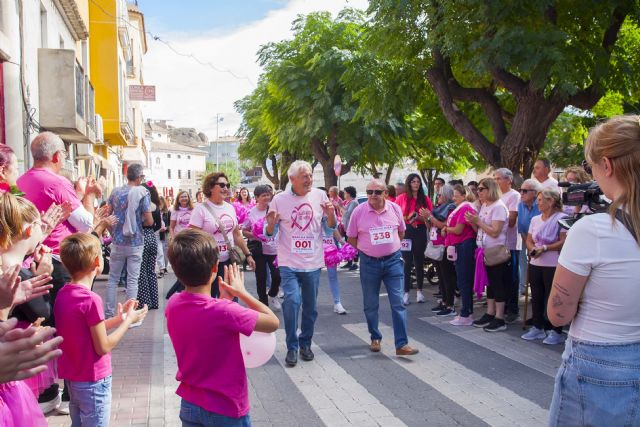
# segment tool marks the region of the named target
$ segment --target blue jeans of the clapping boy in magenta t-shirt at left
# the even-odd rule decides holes
[[[98,381],[65,381],[72,427],[107,427],[111,417],[111,375]]]

